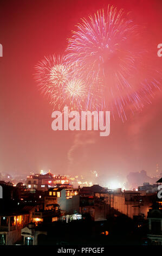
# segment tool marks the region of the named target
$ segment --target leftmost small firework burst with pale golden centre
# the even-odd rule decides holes
[[[35,80],[42,93],[48,95],[50,103],[62,109],[65,101],[64,87],[70,79],[71,68],[64,57],[44,57],[36,66]]]

